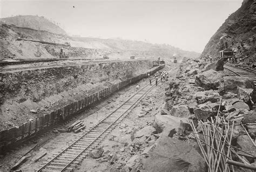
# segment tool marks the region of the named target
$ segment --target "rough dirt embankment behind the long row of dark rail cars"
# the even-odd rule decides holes
[[[153,61],[137,60],[1,73],[0,127],[19,125],[152,66]]]

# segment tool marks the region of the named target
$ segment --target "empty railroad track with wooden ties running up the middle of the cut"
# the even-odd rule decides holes
[[[36,171],[73,171],[85,158],[85,153],[95,148],[114,127],[137,106],[139,100],[154,87],[146,85],[110,114],[106,114],[95,126],[80,136],[68,148],[44,162]]]

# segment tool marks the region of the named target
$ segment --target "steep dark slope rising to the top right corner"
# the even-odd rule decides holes
[[[240,63],[253,65],[255,63],[255,37],[256,37],[256,2],[244,0],[241,7],[232,13],[211,37],[201,55],[207,58],[219,56],[219,39],[227,34],[228,47],[237,49],[237,56],[241,58]]]

